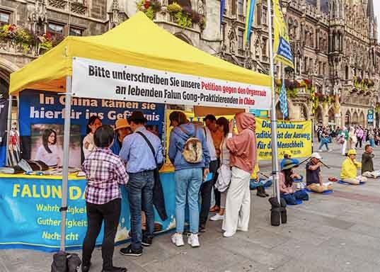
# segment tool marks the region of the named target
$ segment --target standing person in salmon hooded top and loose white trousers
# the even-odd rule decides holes
[[[234,121],[229,124],[226,146],[231,152],[232,179],[227,192],[223,221],[224,237],[231,237],[236,230],[248,232],[251,213],[249,183],[257,159],[255,115],[238,113],[235,116],[238,135],[232,135]]]

